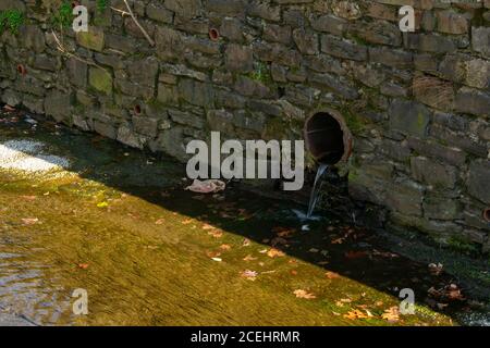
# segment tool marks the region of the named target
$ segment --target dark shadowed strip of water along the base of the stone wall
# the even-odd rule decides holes
[[[183,165],[168,158],[126,149],[115,141],[50,123],[33,130],[32,124],[22,119],[3,121],[1,142],[7,138],[35,137],[58,148],[58,153],[70,159],[70,171],[81,177],[284,252],[324,269],[329,277],[345,276],[395,298],[402,288],[412,288],[419,304],[427,306],[429,301],[436,311],[443,309],[450,316],[466,306],[451,301],[448,308],[445,303],[438,308],[439,300],[431,298],[428,290],[444,288],[457,279],[444,273],[434,275],[427,264],[389,251],[377,234],[336,216],[327,213],[321,221],[309,224],[310,231],[303,232],[302,222],[292,210],[305,207],[294,202],[250,194],[242,190],[240,184],[220,195],[193,194],[183,189]]]

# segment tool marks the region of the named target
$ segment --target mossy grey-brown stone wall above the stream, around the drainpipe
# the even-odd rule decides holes
[[[490,0],[134,0],[52,25],[61,0],[1,0],[26,22],[0,42],[0,96],[136,148],[299,139],[334,109],[354,134],[352,197],[464,248],[490,248]],[[397,11],[416,9],[403,34]],[[62,53],[54,36],[62,41]],[[75,55],[73,55],[75,54]]]

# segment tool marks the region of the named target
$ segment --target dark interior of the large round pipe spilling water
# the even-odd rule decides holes
[[[335,164],[344,156],[344,133],[331,114],[319,112],[305,125],[306,144],[315,159],[324,164]]]

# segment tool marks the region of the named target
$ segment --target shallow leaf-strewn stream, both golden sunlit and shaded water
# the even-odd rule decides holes
[[[0,319],[39,325],[452,325],[427,289],[451,282],[324,216],[302,233],[291,209],[247,194],[184,191],[182,167],[112,141],[4,122],[71,173],[0,170]],[[64,173],[63,175],[60,175]],[[397,308],[414,288],[415,315]],[[74,289],[88,294],[75,315]],[[354,313],[354,314],[353,314]],[[357,313],[357,316],[355,315]],[[359,315],[360,313],[360,315]],[[0,321],[1,322],[1,321]]]

